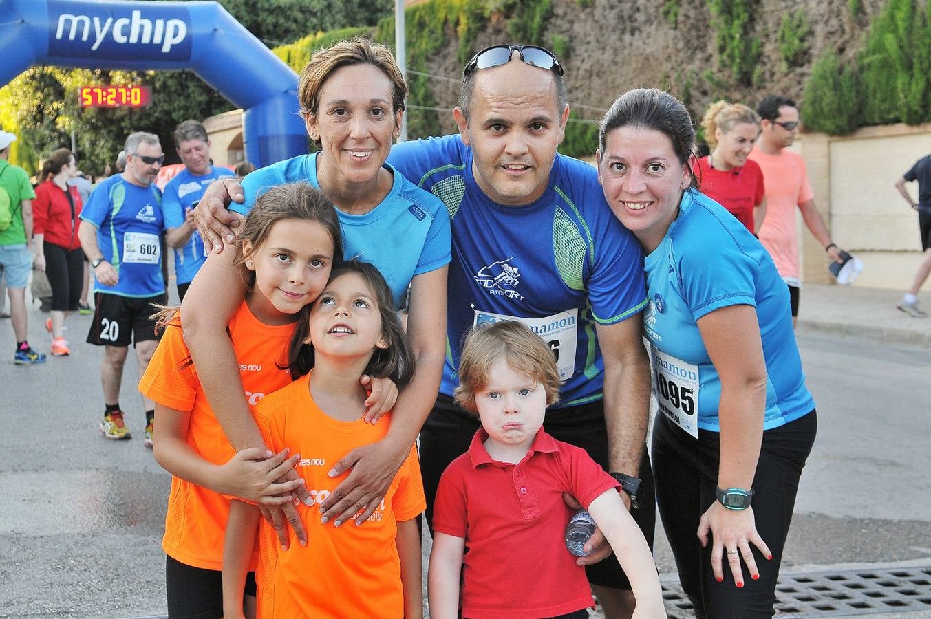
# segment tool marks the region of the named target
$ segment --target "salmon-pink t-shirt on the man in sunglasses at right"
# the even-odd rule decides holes
[[[760,242],[776,262],[776,269],[790,285],[800,286],[799,235],[795,209],[815,197],[802,155],[783,149],[766,155],[755,147],[749,158],[762,168],[766,190],[766,216],[760,226]]]

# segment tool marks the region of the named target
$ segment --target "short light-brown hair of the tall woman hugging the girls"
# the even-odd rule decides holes
[[[372,43],[360,36],[340,41],[331,47],[317,49],[301,72],[301,82],[297,88],[298,100],[301,101],[301,114],[317,114],[320,104],[320,89],[337,69],[353,64],[371,64],[382,71],[391,81],[392,109],[397,114],[404,109],[408,87],[398,62],[391,55],[391,50],[383,45]]]

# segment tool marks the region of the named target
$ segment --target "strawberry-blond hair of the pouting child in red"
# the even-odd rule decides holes
[[[488,386],[495,361],[504,357],[511,370],[530,376],[546,391],[546,406],[560,401],[560,372],[549,346],[515,320],[479,325],[466,337],[459,359],[459,386],[453,394],[462,408],[477,412],[475,396]]]

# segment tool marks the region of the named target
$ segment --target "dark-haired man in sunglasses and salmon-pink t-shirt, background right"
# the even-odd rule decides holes
[[[830,240],[828,226],[815,207],[815,192],[808,182],[802,155],[787,150],[799,132],[799,110],[787,97],[769,96],[757,106],[760,114],[760,139],[749,158],[762,168],[766,196],[766,218],[760,227],[760,242],[776,262],[779,275],[789,286],[792,326],[799,314],[799,290],[802,288],[799,267],[799,241],[795,229],[795,209],[812,235],[824,246],[831,260],[843,262],[841,249]]]

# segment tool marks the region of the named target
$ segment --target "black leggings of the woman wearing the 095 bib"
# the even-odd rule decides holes
[[[705,619],[756,619],[773,616],[776,577],[782,550],[789,534],[795,494],[808,453],[815,442],[817,416],[813,409],[803,417],[762,435],[760,461],[753,478],[753,516],[757,532],[773,553],[766,560],[750,545],[760,570],[760,579],[749,578],[741,562],[744,586],[737,588],[734,576],[722,561],[724,580],[718,583],[711,572],[711,544],[698,541],[698,521],[714,503],[721,460],[717,432],[698,430],[690,437],[665,415],[657,414],[653,430],[656,504],[679,569],[682,589],[695,606],[695,617]]]

